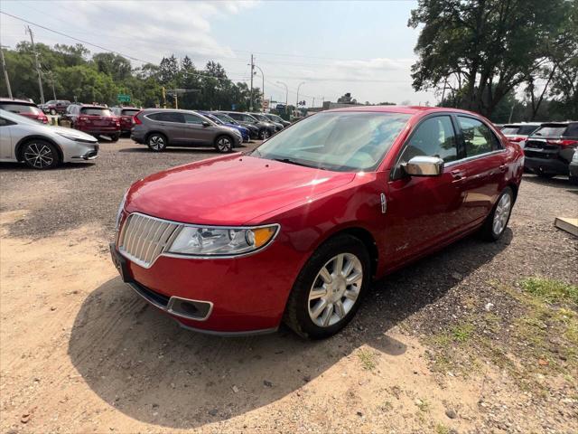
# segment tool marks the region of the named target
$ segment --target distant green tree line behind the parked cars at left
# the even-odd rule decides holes
[[[224,68],[209,61],[198,69],[188,56],[179,61],[174,55],[157,65],[145,63],[133,68],[125,57],[112,52],[93,55],[82,44],[35,44],[42,65],[44,99],[69,99],[117,105],[117,95],[127,94],[137,107],[174,107],[170,90],[177,94],[182,109],[249,109],[247,83],[229,80]],[[5,63],[14,98],[31,98],[40,103],[38,76],[30,42],[19,42],[14,50],[5,50]],[[165,98],[163,99],[163,88]],[[0,95],[7,96],[5,80]],[[260,90],[253,89],[254,107],[260,107]]]

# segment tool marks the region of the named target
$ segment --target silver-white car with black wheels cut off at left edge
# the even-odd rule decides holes
[[[39,124],[0,109],[0,162],[24,162],[33,169],[93,160],[98,140],[79,130]]]

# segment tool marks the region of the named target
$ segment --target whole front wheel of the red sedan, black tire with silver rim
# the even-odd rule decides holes
[[[349,274],[337,272],[340,257],[341,269],[351,266]],[[323,269],[325,278],[322,278]],[[343,234],[326,241],[315,250],[296,278],[285,307],[284,323],[297,335],[310,339],[335,335],[358,311],[369,285],[369,269],[368,250],[359,239]],[[358,279],[352,284],[343,278],[356,275]],[[314,288],[318,290],[313,291]]]

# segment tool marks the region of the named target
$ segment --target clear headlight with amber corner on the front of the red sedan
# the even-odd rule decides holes
[[[265,247],[275,238],[279,225],[257,228],[183,226],[169,253],[191,256],[234,256]]]

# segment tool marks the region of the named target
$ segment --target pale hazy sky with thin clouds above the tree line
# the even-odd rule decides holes
[[[31,25],[35,42],[74,44],[69,36],[131,58],[134,67],[172,53],[197,68],[219,61],[231,80],[250,78],[266,98],[308,107],[350,92],[359,102],[434,104],[415,92],[418,29],[407,27],[416,1],[23,1],[2,0],[0,11]],[[14,48],[28,39],[22,21],[0,14],[0,42]],[[85,44],[91,52],[103,52]],[[263,75],[265,83],[263,83]],[[284,84],[281,84],[284,83]],[[301,84],[300,86],[300,83]],[[288,92],[285,90],[285,86]]]

